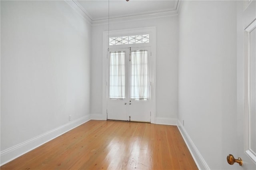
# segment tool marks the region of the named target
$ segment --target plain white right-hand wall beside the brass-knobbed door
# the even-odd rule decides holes
[[[210,169],[230,169],[226,155],[236,154],[235,1],[182,3],[178,66],[178,120]]]

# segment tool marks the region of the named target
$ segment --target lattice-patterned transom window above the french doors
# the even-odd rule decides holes
[[[149,34],[109,38],[109,45],[123,45],[133,43],[149,43]]]

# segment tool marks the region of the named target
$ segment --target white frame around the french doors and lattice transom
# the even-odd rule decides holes
[[[103,32],[102,50],[102,120],[107,120],[107,62],[108,62],[108,38],[114,36],[131,36],[149,34],[149,43],[141,43],[139,46],[151,47],[151,123],[156,122],[156,27],[133,28],[124,30],[111,30]],[[138,44],[136,44],[137,46]],[[136,47],[133,44],[117,45],[123,47]]]

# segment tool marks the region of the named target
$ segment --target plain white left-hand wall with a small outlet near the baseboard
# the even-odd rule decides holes
[[[64,1],[1,0],[1,152],[90,113],[90,32]]]

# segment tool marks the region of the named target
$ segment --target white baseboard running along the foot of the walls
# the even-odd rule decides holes
[[[62,125],[58,128],[50,130],[49,132],[36,136],[35,138],[32,138],[16,146],[8,148],[0,152],[0,158],[1,158],[0,166],[14,160],[15,158],[18,158],[19,156],[22,156],[23,154],[41,146],[42,144],[45,144],[46,142],[90,120],[104,120],[104,118],[102,114],[86,115],[84,117],[81,117],[80,119],[76,119],[75,121]],[[155,123],[160,125],[177,125],[178,124],[178,129],[180,130],[180,133],[182,134],[182,137],[186,142],[186,145],[188,146],[188,149],[192,154],[192,157],[194,158],[194,161],[196,162],[196,165],[198,166],[198,168],[200,170],[201,169],[210,170],[207,163],[202,158],[200,152],[194,145],[194,142],[191,140],[191,138],[189,137],[188,133],[186,132],[186,130],[184,129],[180,121],[172,118],[157,117]]]

